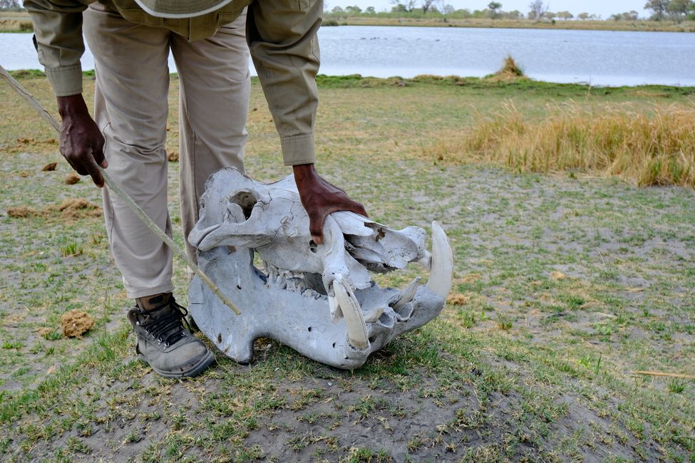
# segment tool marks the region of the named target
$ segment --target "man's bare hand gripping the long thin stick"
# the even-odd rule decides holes
[[[63,118],[61,153],[79,175],[91,175],[94,184],[104,186],[98,165],[108,167],[104,137],[89,115],[82,95],[59,96],[58,113]]]

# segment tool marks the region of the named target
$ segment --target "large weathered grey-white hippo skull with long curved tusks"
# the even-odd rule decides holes
[[[198,264],[241,316],[195,277],[190,311],[197,326],[227,356],[249,362],[253,341],[273,338],[327,365],[358,368],[397,335],[423,326],[441,311],[451,288],[453,257],[446,234],[396,231],[351,212],[326,217],[315,244],[292,176],[262,184],[234,168],[207,181],[200,219],[188,240]],[[254,254],[263,270],[254,266]],[[403,291],[379,288],[370,271],[403,269],[416,261],[431,269]]]

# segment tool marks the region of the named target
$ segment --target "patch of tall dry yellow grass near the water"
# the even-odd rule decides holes
[[[585,109],[577,103],[529,120],[513,105],[442,141],[448,162],[493,162],[532,172],[619,176],[640,185],[695,187],[695,108]]]

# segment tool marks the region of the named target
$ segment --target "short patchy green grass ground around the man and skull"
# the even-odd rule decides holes
[[[41,76],[25,73],[21,82],[54,108]],[[218,353],[214,368],[187,381],[158,378],[135,359],[124,320],[130,301],[101,217],[4,214],[100,198],[89,182],[63,184],[56,135],[0,86],[0,110],[13,116],[0,119],[5,459],[693,461],[695,383],[631,375],[695,375],[693,190],[431,156],[510,100],[542,120],[547,103],[648,110],[688,104],[692,89],[399,82],[319,78],[317,167],[391,227],[443,223],[460,298],[354,372],[261,340],[251,365]],[[89,99],[89,76],[85,88]],[[174,76],[173,108],[176,98]],[[277,180],[289,170],[255,80],[250,108],[247,170]],[[58,170],[41,172],[51,160]],[[172,192],[177,182],[170,163]],[[174,199],[173,219],[177,210]],[[178,229],[175,240],[182,243]],[[404,286],[420,274],[409,268],[379,284]],[[175,286],[185,301],[178,261]],[[83,340],[58,335],[72,308],[97,321]]]

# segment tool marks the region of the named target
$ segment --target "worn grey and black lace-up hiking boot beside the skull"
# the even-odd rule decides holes
[[[136,303],[128,311],[138,338],[135,350],[157,373],[165,378],[196,376],[215,360],[205,343],[190,333],[188,311],[171,293],[138,298]]]

